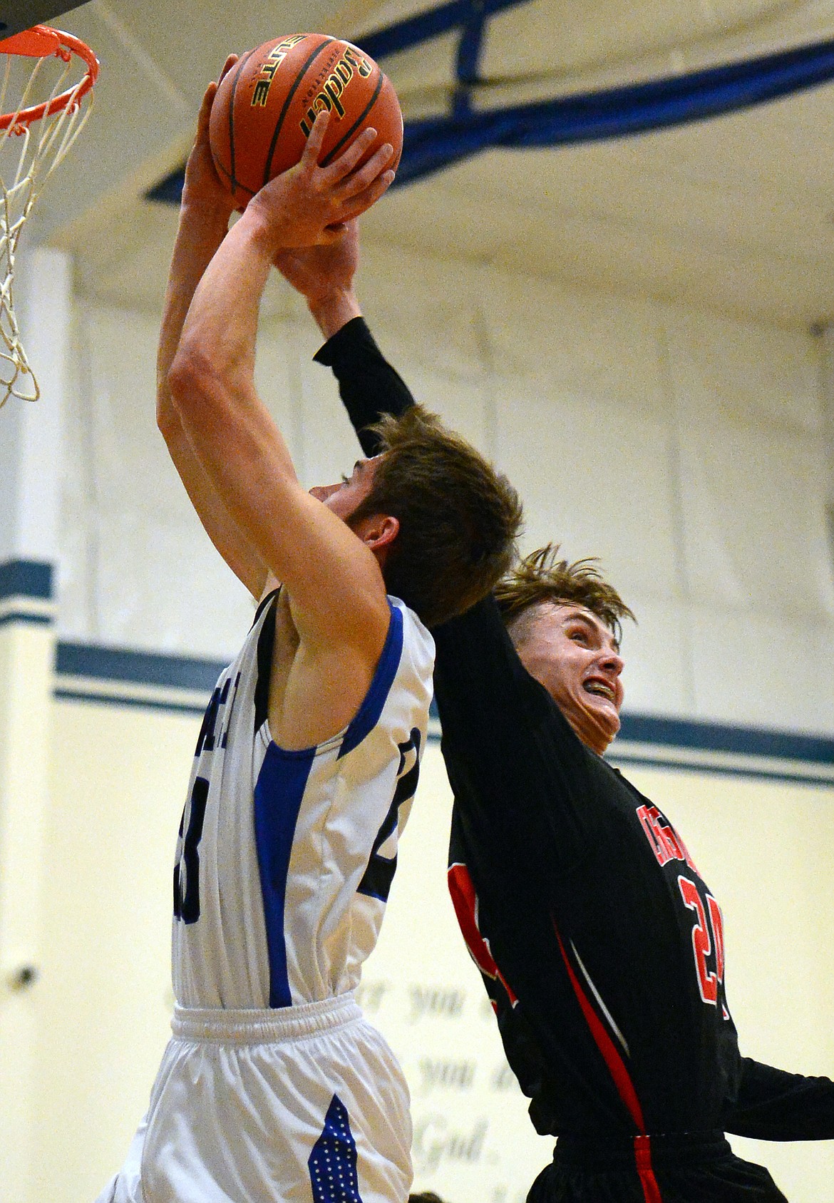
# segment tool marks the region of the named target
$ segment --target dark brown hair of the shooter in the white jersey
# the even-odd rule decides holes
[[[383,414],[371,429],[382,458],[350,526],[374,514],[399,520],[382,565],[386,589],[437,627],[507,571],[522,503],[506,476],[422,405],[400,417]]]

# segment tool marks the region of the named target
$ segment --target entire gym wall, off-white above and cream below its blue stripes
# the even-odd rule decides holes
[[[525,546],[601,555],[635,608],[616,754],[723,906],[743,1050],[834,1074],[820,340],[380,247],[361,292],[418,398],[519,485]],[[157,330],[159,313],[73,298],[55,581],[48,597],[0,587],[0,1197],[14,1203],[94,1198],[147,1104],[198,715],[252,616],[155,429]],[[273,289],[258,386],[308,485],[357,454],[317,345]],[[418,1185],[519,1203],[550,1142],[507,1078],[457,934],[447,830],[433,743],[363,1005],[409,1074]],[[12,989],[29,961],[40,977]],[[834,1203],[828,1144],[750,1155],[793,1203]]]

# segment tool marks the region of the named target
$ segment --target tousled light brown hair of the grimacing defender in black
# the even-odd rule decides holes
[[[495,600],[505,626],[512,627],[530,606],[542,602],[580,605],[604,622],[616,642],[621,620],[637,620],[613,585],[600,574],[595,557],[570,564],[559,559],[559,544],[548,543],[520,559],[495,587]]]

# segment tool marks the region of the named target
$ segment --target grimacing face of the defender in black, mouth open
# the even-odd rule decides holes
[[[579,739],[600,755],[620,729],[622,657],[601,618],[579,605],[544,602],[516,644]]]

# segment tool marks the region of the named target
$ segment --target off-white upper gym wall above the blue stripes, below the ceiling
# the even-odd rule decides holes
[[[820,339],[373,244],[359,292],[418,399],[518,485],[525,546],[603,558],[639,618],[630,707],[834,734]],[[305,485],[338,480],[357,444],[317,331],[278,280],[266,310],[258,387]],[[76,298],[59,629],[233,654],[248,598],[156,432],[157,336]]]

